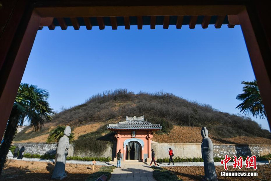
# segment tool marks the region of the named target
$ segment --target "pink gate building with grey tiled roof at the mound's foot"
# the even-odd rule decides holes
[[[144,116],[126,116],[126,121],[109,124],[107,129],[116,132],[116,153],[121,150],[123,161],[150,161],[153,132],[162,129],[162,126],[145,121]]]

